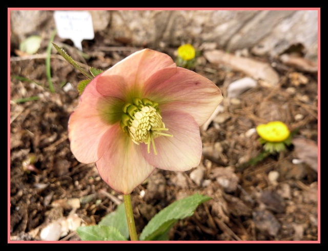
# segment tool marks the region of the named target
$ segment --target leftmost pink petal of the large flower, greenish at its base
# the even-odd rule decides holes
[[[101,136],[111,124],[119,122],[122,113],[121,100],[104,97],[97,92],[97,79],[94,78],[85,88],[68,122],[71,151],[83,163],[93,163],[99,159],[98,144]]]

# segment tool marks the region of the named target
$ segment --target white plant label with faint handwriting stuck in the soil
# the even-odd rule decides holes
[[[92,17],[88,11],[55,11],[57,35],[60,38],[71,39],[74,46],[82,50],[83,39],[93,39],[94,31]]]

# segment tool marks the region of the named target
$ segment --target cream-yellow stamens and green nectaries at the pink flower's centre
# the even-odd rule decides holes
[[[122,107],[124,114],[120,121],[122,131],[131,137],[136,144],[140,142],[153,145],[154,153],[157,155],[154,138],[159,136],[173,137],[173,135],[162,133],[168,131],[162,122],[158,103],[148,98],[134,98],[133,103],[125,103]]]

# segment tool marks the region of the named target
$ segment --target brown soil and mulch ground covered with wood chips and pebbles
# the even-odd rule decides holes
[[[75,61],[103,70],[142,49],[98,34],[94,40],[84,41],[87,57],[83,57],[70,40],[56,36],[54,42],[65,46]],[[72,215],[78,224],[97,224],[122,201],[122,196],[101,180],[94,164],[79,163],[70,151],[67,123],[78,103],[76,87],[84,76],[52,51],[55,92],[51,93],[46,47],[39,49],[38,56],[18,55],[15,48],[11,52],[11,240],[40,240],[43,228]],[[151,49],[175,58],[177,48]],[[294,138],[303,140],[305,146],[306,142],[318,144],[317,73],[300,71],[277,58],[256,59],[274,66],[280,82],[275,87],[258,85],[228,102],[229,83],[247,75],[199,57],[193,70],[220,88],[224,111],[206,130],[201,129],[203,158],[198,168],[183,173],[156,170],[134,190],[131,196],[138,234],[162,208],[200,193],[213,199],[179,221],[170,231],[170,240],[318,240],[318,173],[296,151],[296,145],[255,165],[245,164],[262,151],[254,128],[273,119],[297,129]],[[38,100],[15,102],[32,96]],[[60,240],[80,239],[70,229]]]

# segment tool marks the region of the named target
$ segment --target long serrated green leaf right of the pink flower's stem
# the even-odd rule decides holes
[[[192,216],[199,204],[210,199],[212,198],[195,194],[173,202],[148,222],[142,230],[139,239],[142,241],[150,241],[165,238],[171,227],[178,220]]]

